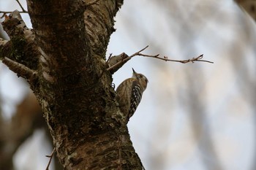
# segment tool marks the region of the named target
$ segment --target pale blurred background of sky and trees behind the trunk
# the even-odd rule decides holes
[[[26,1],[20,0],[26,8]],[[243,4],[243,1],[239,1]],[[247,3],[247,2],[246,2]],[[251,12],[255,1],[244,5]],[[20,9],[0,0],[1,11]],[[31,27],[29,15],[22,15]],[[128,123],[147,170],[255,170],[256,27],[233,0],[129,0],[116,16],[110,53],[137,56],[113,75],[116,87],[146,75],[148,88]],[[1,28],[0,28],[1,29]],[[7,39],[1,31],[1,37]],[[45,169],[52,151],[45,120],[25,81],[0,63],[0,169]],[[50,169],[59,169],[51,163]]]

